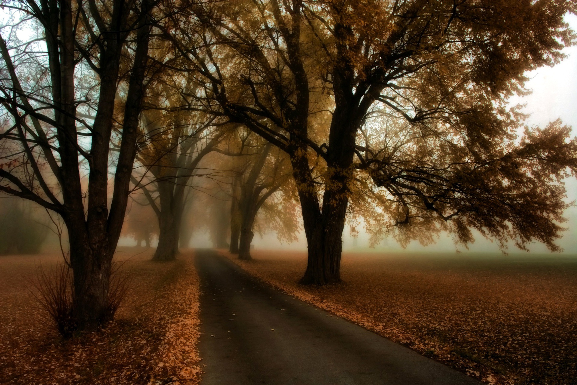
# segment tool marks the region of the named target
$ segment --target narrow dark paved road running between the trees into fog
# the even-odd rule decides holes
[[[201,278],[202,385],[481,384],[255,281],[209,250]]]

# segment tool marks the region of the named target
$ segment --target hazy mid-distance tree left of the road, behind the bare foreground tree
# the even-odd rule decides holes
[[[223,130],[215,129],[213,117],[181,108],[186,95],[197,91],[190,76],[181,79],[165,72],[155,80],[149,84],[144,132],[138,140],[137,160],[142,167],[137,167],[132,180],[158,217],[154,259],[166,261],[178,253],[182,214],[190,192],[187,186],[201,160],[219,143]]]

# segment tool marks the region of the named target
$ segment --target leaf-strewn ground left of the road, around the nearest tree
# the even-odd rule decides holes
[[[136,251],[135,251],[136,250]],[[193,253],[152,262],[123,248],[129,289],[115,321],[64,340],[32,294],[38,266],[61,256],[0,256],[0,383],[197,384],[198,276]]]

